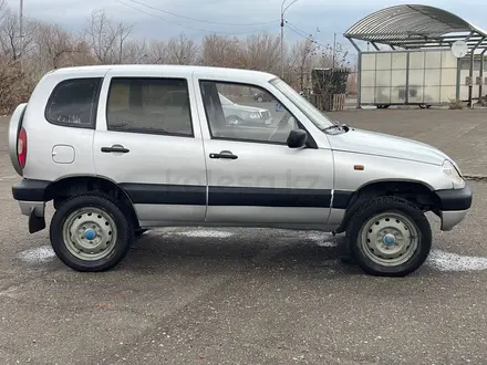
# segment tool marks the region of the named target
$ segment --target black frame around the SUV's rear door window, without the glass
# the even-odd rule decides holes
[[[155,132],[148,132],[148,131],[141,131],[141,129],[113,129],[113,127],[110,126],[108,123],[108,103],[110,103],[110,96],[112,93],[112,86],[114,80],[176,80],[176,81],[184,81],[186,83],[186,92],[189,98],[189,125],[191,128],[191,134],[182,134],[182,133],[168,133],[164,131],[155,131]],[[191,111],[191,97],[190,97],[190,90],[189,90],[190,81],[186,77],[170,77],[170,76],[112,76],[110,77],[108,83],[108,90],[106,93],[106,103],[105,103],[105,121],[106,121],[106,131],[107,132],[114,132],[114,133],[133,133],[133,134],[145,134],[145,135],[155,135],[155,136],[168,136],[168,137],[180,137],[180,138],[195,138],[195,126],[194,126],[194,117],[193,117],[193,111]]]

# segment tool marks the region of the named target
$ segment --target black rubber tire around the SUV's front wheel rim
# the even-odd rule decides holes
[[[397,265],[385,265],[374,262],[362,246],[362,229],[374,216],[391,212],[407,217],[417,230],[417,247],[406,262]],[[372,231],[372,230],[371,230]],[[432,248],[432,229],[423,211],[405,199],[397,197],[379,197],[366,201],[351,218],[346,229],[345,241],[359,265],[369,274],[380,277],[405,277],[417,270],[427,259]]]

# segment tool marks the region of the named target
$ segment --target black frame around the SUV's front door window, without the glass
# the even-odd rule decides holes
[[[208,126],[208,132],[209,132],[209,136],[211,139],[216,139],[216,140],[232,140],[232,142],[245,142],[245,143],[257,143],[257,144],[268,144],[268,145],[277,145],[277,146],[286,146],[288,147],[287,142],[271,142],[271,140],[256,140],[256,139],[247,139],[247,138],[231,138],[231,137],[218,137],[218,136],[214,136],[213,131],[211,131],[211,123],[209,121],[208,117],[208,112],[205,105],[205,98],[203,96],[203,85],[201,83],[204,82],[211,82],[214,84],[229,84],[229,85],[238,85],[238,86],[244,86],[244,87],[252,87],[252,88],[257,88],[260,90],[265,93],[267,93],[268,95],[270,95],[271,97],[273,97],[276,100],[276,102],[278,102],[283,108],[286,108],[286,111],[291,115],[291,117],[294,118],[296,123],[298,124],[298,127],[302,131],[304,131],[308,134],[308,142],[305,144],[305,148],[311,148],[311,149],[318,149],[318,144],[314,140],[313,136],[311,135],[311,133],[304,127],[304,125],[296,117],[296,115],[289,111],[289,108],[286,107],[286,105],[269,90],[267,90],[263,86],[260,85],[256,85],[256,84],[250,84],[250,83],[246,83],[246,82],[239,82],[239,81],[227,81],[227,80],[216,80],[216,79],[204,79],[204,77],[199,77],[198,79],[198,86],[199,86],[199,94],[201,97],[201,102],[203,102],[203,108],[205,111],[205,117],[206,117],[206,124]],[[225,95],[224,95],[225,96]],[[219,101],[219,98],[218,98]],[[220,102],[220,105],[221,102]],[[273,131],[272,131],[273,132]],[[288,147],[289,148],[289,147]]]

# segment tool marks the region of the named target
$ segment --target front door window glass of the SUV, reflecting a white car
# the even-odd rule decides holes
[[[292,114],[259,86],[201,81],[200,88],[213,138],[286,144],[298,128]]]

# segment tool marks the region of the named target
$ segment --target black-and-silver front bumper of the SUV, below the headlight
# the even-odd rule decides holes
[[[473,192],[468,185],[463,189],[436,190],[442,231],[450,231],[464,220],[472,207]]]

